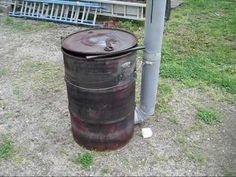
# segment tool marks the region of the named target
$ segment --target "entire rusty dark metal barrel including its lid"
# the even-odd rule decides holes
[[[115,150],[133,136],[137,38],[118,29],[89,29],[62,41],[75,141]]]

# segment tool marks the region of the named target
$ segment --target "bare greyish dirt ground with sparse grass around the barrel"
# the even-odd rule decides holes
[[[172,81],[172,113],[136,126],[130,143],[120,150],[92,152],[89,169],[74,163],[77,154],[88,151],[74,142],[70,131],[60,38],[80,28],[56,25],[18,32],[2,23],[0,134],[11,135],[13,152],[0,158],[0,175],[216,176],[236,169],[235,103]],[[199,105],[214,107],[223,122],[198,122]],[[150,139],[142,138],[143,127],[152,129]]]

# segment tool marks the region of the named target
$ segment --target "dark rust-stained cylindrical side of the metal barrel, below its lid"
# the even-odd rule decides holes
[[[72,133],[91,150],[115,150],[133,136],[136,52],[86,60],[63,51]]]

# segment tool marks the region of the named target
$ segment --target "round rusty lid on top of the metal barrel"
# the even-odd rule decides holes
[[[135,47],[134,34],[120,29],[89,29],[67,36],[62,48],[82,55],[100,55],[123,51]]]

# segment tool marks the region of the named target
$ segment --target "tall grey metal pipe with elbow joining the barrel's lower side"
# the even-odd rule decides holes
[[[145,121],[155,112],[165,10],[166,0],[147,0],[141,100],[135,110],[136,124]]]

